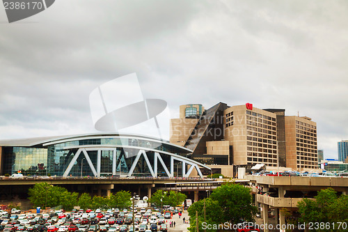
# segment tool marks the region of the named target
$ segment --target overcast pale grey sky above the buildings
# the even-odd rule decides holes
[[[136,72],[145,98],[253,103],[348,139],[348,1],[58,0],[8,24],[0,6],[0,139],[96,132],[89,94]],[[129,89],[132,91],[132,89]]]

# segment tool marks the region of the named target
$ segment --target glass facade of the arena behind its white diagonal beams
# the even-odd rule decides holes
[[[187,156],[188,152],[171,144],[162,144],[161,141],[152,141],[142,138],[129,137],[97,137],[89,139],[66,139],[65,142],[36,147],[3,147],[2,163],[4,173],[22,172],[26,175],[63,176],[70,162],[77,154],[79,148],[86,148],[86,153],[95,169],[97,169],[98,150],[100,150],[100,176],[125,175],[131,169],[139,150],[153,149]],[[132,148],[134,147],[134,148]],[[146,156],[152,165],[155,151],[147,150]],[[165,164],[171,162],[170,155],[161,155]],[[115,167],[114,167],[114,164]],[[71,166],[71,165],[70,165]],[[168,167],[167,167],[168,169]],[[179,167],[176,167],[179,170]],[[180,167],[180,170],[182,168]],[[175,170],[176,171],[176,170]],[[158,165],[158,173],[164,173],[164,168]],[[72,164],[69,176],[95,176],[88,164],[84,152]],[[134,176],[151,176],[148,163],[143,155],[139,158],[134,169]]]

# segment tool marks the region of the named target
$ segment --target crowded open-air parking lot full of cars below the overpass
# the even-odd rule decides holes
[[[141,208],[109,210],[76,210],[43,212],[38,214],[10,214],[1,212],[0,231],[3,232],[132,232],[132,231],[187,231],[187,211],[178,215],[178,210],[156,210]],[[134,229],[133,229],[134,221]],[[174,227],[175,222],[175,227]],[[173,227],[172,227],[173,226]]]

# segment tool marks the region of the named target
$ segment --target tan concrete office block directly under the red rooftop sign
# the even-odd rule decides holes
[[[245,105],[230,107],[224,114],[224,139],[232,146],[233,164],[251,167],[264,163],[276,167],[276,114],[255,107],[246,109]]]

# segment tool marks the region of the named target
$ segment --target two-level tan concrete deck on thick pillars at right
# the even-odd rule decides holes
[[[285,224],[285,208],[297,210],[297,203],[304,197],[311,199],[317,191],[332,187],[339,194],[347,194],[348,178],[339,177],[308,177],[308,176],[246,176],[250,180],[255,204],[262,211],[263,224],[269,224],[269,209],[274,210],[277,224]],[[260,194],[273,192],[273,196]],[[267,232],[268,230],[265,230]]]

